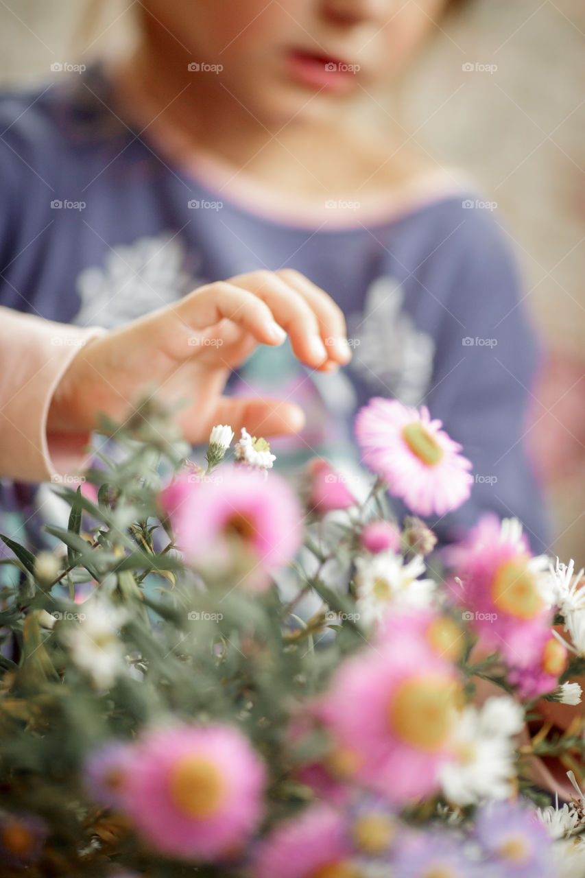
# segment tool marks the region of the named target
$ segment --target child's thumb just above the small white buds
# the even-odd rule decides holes
[[[242,427],[258,436],[298,433],[305,426],[302,408],[282,399],[241,399],[222,397],[206,423],[193,419],[184,420],[184,438],[193,444],[206,442],[216,424],[228,424],[237,437]]]

